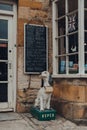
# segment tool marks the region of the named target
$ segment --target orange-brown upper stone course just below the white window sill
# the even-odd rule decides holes
[[[68,81],[60,80],[54,83],[54,95],[66,101],[85,102],[85,86],[68,84]]]

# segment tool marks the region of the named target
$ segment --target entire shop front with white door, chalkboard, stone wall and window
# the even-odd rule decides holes
[[[53,107],[68,119],[86,119],[86,0],[0,0],[0,111],[29,111],[41,87],[43,53]]]

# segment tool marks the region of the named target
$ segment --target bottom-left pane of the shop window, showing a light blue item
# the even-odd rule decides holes
[[[65,74],[66,73],[66,57],[58,58],[58,73]]]

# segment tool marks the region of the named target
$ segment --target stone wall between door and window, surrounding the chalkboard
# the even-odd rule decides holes
[[[17,11],[17,112],[28,112],[41,87],[39,75],[24,73],[24,24],[48,27],[48,66],[52,71],[52,7],[49,0],[18,0]]]

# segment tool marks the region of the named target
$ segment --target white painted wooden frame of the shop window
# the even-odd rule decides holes
[[[87,77],[87,74],[85,74],[84,70],[84,0],[78,0],[78,64],[79,64],[79,73],[77,74],[69,74],[68,68],[66,67],[66,74],[58,74],[58,22],[56,22],[56,19],[58,18],[57,15],[57,2],[58,0],[52,1],[52,28],[53,28],[53,77],[69,77],[69,78],[75,78],[75,77]],[[68,4],[67,0],[65,0],[66,4],[66,13],[68,12]],[[83,25],[83,26],[82,26]],[[68,29],[68,20],[66,17],[66,32]],[[66,34],[66,43],[68,43],[68,38]],[[66,60],[67,61],[67,60]],[[83,63],[83,64],[82,64]],[[67,62],[66,62],[66,66]]]

